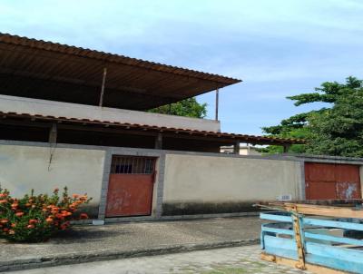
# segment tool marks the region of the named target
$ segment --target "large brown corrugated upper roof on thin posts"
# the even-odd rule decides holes
[[[0,93],[97,104],[107,67],[104,105],[145,110],[240,80],[0,33]]]

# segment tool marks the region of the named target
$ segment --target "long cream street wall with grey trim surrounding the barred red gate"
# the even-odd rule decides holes
[[[109,221],[255,211],[251,205],[256,201],[276,201],[281,195],[303,200],[304,161],[358,164],[363,182],[363,159],[266,158],[64,143],[51,149],[46,142],[0,140],[0,183],[15,197],[32,188],[37,193],[51,193],[65,185],[71,193],[86,191],[93,197],[88,212],[103,219],[113,155],[155,157],[158,161],[152,216]]]

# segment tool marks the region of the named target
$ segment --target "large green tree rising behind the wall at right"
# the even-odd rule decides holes
[[[299,106],[304,103],[330,103],[331,107],[300,113],[277,126],[262,128],[272,136],[304,138],[306,145],[293,145],[289,152],[339,156],[363,156],[363,81],[348,77],[346,83],[326,82],[316,93],[288,97]],[[265,152],[280,152],[269,146]]]

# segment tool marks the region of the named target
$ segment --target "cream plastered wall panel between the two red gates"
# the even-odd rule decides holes
[[[275,201],[300,199],[299,161],[168,154],[163,201]]]

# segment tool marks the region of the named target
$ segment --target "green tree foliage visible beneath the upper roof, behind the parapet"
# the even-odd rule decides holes
[[[188,98],[170,105],[162,105],[149,112],[204,118],[207,115],[207,103],[198,103],[195,98]]]

